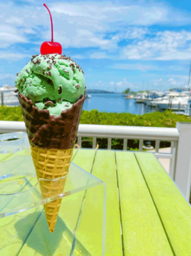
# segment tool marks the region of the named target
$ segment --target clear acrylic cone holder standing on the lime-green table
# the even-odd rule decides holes
[[[22,141],[10,140],[18,136]],[[26,138],[25,133],[0,135],[0,255],[103,256],[105,183],[74,163],[63,178],[38,180]],[[63,193],[53,193],[64,179]],[[52,189],[42,198],[41,188],[49,182]],[[50,233],[43,205],[60,198],[56,228]]]

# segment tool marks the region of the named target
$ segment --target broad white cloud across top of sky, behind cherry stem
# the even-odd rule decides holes
[[[29,1],[33,2],[33,1]],[[38,3],[38,2],[37,2]],[[13,6],[0,4],[1,28],[0,45],[8,47],[13,43],[27,43],[26,34],[33,33],[38,40],[50,40],[51,26],[49,13],[44,6],[33,8],[30,5]],[[49,5],[53,16],[54,39],[63,47],[99,47],[117,49],[117,42],[124,39],[141,39],[147,28],[153,24],[188,24],[190,16],[170,9],[165,3],[145,3],[128,1],[128,4],[107,2],[57,2]],[[190,23],[189,23],[190,24]],[[18,27],[19,26],[19,27]],[[132,26],[135,26],[133,28]],[[137,27],[139,26],[139,27]],[[44,32],[42,27],[46,27]],[[106,33],[116,32],[106,39]],[[30,42],[35,40],[30,39]],[[131,56],[132,56],[131,49]],[[126,54],[125,54],[126,55]],[[147,55],[147,54],[146,54]],[[134,52],[139,59],[140,52]],[[146,56],[147,57],[147,56]]]

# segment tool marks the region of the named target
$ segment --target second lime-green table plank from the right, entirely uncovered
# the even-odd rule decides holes
[[[116,152],[116,159],[125,255],[172,256],[134,154]]]

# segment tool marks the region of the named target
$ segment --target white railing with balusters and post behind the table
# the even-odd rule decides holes
[[[0,121],[0,133],[26,132],[24,122]],[[139,140],[139,151],[143,149],[144,140],[155,141],[154,155],[157,158],[169,158],[169,174],[187,199],[190,198],[191,184],[191,123],[177,123],[176,128],[138,127],[138,126],[101,126],[80,124],[78,128],[78,145],[81,147],[83,137],[92,137],[92,148],[97,146],[97,138],[108,138],[108,149],[112,139],[124,140],[126,151],[128,140]],[[160,141],[171,142],[170,153],[160,153]]]

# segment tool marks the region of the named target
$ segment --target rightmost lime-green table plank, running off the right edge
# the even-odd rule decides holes
[[[135,153],[174,255],[191,255],[191,207],[152,153]]]

